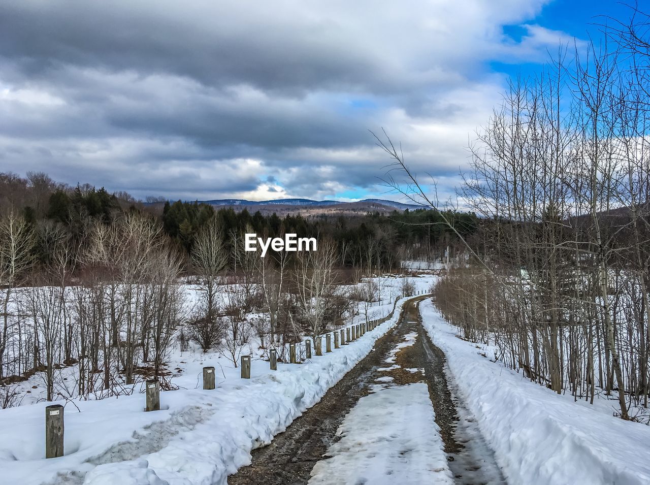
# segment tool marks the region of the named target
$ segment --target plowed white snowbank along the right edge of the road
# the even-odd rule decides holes
[[[456,338],[430,301],[424,328],[447,356],[450,378],[508,482],[526,485],[650,483],[650,427],[604,405],[553,393],[481,356],[490,348]]]

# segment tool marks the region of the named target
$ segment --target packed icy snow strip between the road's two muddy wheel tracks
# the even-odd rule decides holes
[[[414,335],[391,354],[413,345]],[[346,415],[337,430],[341,439],[327,451],[331,458],[314,465],[309,485],[453,484],[428,386],[393,386],[390,376],[375,381],[384,384],[371,386]]]

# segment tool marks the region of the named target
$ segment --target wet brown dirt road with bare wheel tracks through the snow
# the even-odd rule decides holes
[[[448,464],[458,484],[506,483],[471,415],[458,404],[454,386],[448,385],[443,352],[433,345],[422,328],[418,304],[424,298],[410,300],[398,324],[378,339],[370,354],[270,445],[253,451],[252,464],[231,475],[228,483],[307,484],[313,465],[328,458],[326,452],[337,439],[337,428],[346,413],[369,393],[370,385],[380,376],[391,376],[398,385],[428,384],[435,421],[441,428]],[[395,352],[396,346],[409,334],[417,334],[415,345]],[[395,356],[395,362],[387,363],[391,355]],[[388,367],[392,369],[387,370]]]

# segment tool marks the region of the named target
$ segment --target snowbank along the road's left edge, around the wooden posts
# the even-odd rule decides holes
[[[361,339],[302,365],[278,363],[270,371],[267,361],[253,359],[250,380],[219,365],[216,354],[201,355],[174,378],[181,389],[161,393],[159,412],[143,412],[142,384],[133,395],[68,402],[61,458],[43,459],[44,407],[52,403],[3,410],[0,483],[226,484],[227,475],[250,463],[253,448],[270,443],[372,350],[404,301]],[[379,308],[385,315],[392,304]],[[213,391],[196,388],[203,365],[216,365],[224,376]]]

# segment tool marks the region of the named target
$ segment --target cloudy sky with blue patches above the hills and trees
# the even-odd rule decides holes
[[[615,1],[8,0],[0,172],[136,198],[404,200],[371,132],[441,200],[508,77]],[[574,41],[575,40],[575,41]],[[402,174],[391,172],[400,181]]]

